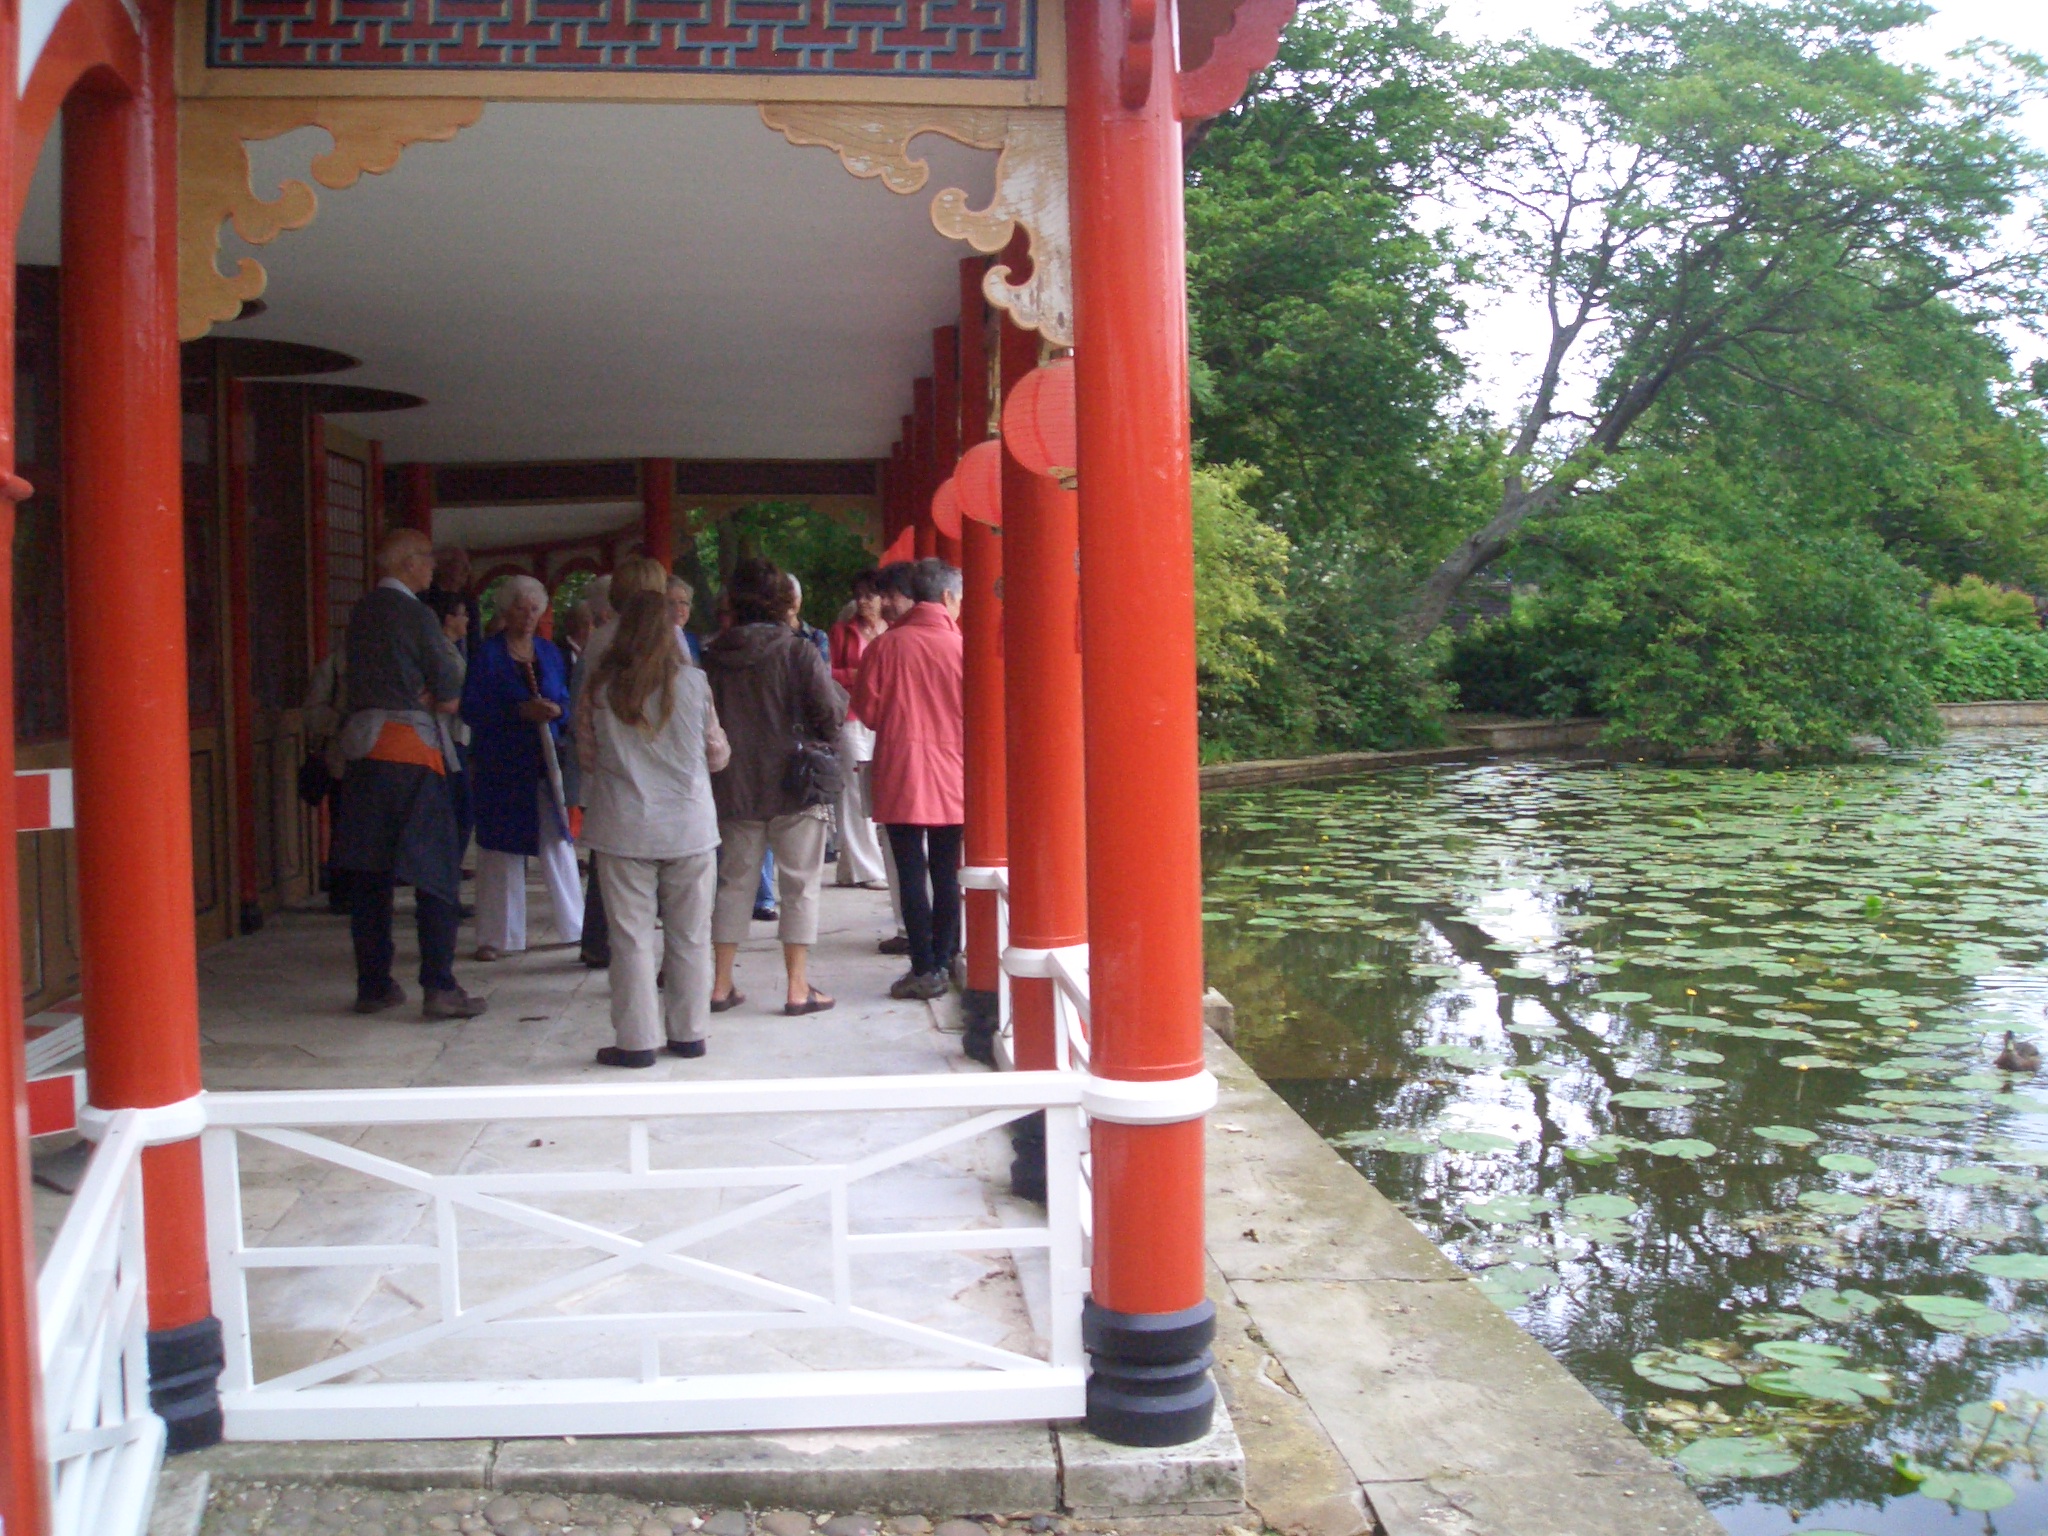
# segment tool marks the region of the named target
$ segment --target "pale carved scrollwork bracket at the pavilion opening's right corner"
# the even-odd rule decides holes
[[[852,102],[762,102],[762,121],[791,143],[838,152],[848,172],[909,197],[932,176],[911,154],[920,133],[944,133],[971,150],[999,150],[995,195],[983,209],[948,186],[932,199],[932,227],[983,254],[1030,236],[1030,276],[1010,281],[995,264],[983,295],[1024,330],[1073,346],[1073,242],[1067,236],[1067,115],[1057,106],[899,106]]]

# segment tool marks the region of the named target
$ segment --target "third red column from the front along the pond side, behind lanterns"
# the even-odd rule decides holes
[[[961,262],[956,449],[989,434],[987,303],[981,297],[985,258]],[[950,328],[948,328],[950,330]],[[997,870],[1010,858],[1008,801],[1004,795],[1004,541],[997,528],[961,518],[961,629],[967,641],[967,831],[971,870]],[[971,877],[971,879],[981,879]],[[1001,956],[995,944],[995,889],[969,885],[967,903],[967,1034],[961,1049],[995,1063],[997,987]]]

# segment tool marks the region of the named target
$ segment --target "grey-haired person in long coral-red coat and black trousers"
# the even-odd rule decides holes
[[[874,731],[874,819],[889,829],[909,930],[909,973],[889,995],[942,997],[961,950],[967,819],[961,573],[918,561],[909,596],[909,612],[860,657],[852,707]]]

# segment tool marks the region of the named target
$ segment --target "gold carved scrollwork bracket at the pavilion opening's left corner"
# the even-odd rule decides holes
[[[268,246],[287,229],[309,225],[319,211],[319,199],[301,180],[287,180],[276,197],[260,197],[250,143],[303,127],[326,129],[334,147],[313,156],[311,176],[342,190],[365,174],[391,170],[410,145],[444,143],[479,117],[481,100],[449,98],[178,102],[178,338],[190,342],[233,319],[268,283],[262,262],[250,256],[231,274],[221,270],[223,223],[233,221],[250,246]]]

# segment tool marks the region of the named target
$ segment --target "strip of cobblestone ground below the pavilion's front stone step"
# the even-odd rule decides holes
[[[1139,1522],[1155,1524],[1155,1522]],[[1219,1532],[1217,1524],[1186,1522]],[[1219,1522],[1221,1524],[1221,1522]],[[1253,1522],[1257,1524],[1257,1522]],[[485,1493],[477,1489],[309,1487],[303,1483],[229,1483],[207,1503],[199,1536],[1081,1536],[1092,1522],[1044,1513],[930,1520],[926,1516],[846,1516],[799,1509],[686,1509],[635,1503],[608,1493]],[[1251,1536],[1221,1526],[1219,1536]]]

